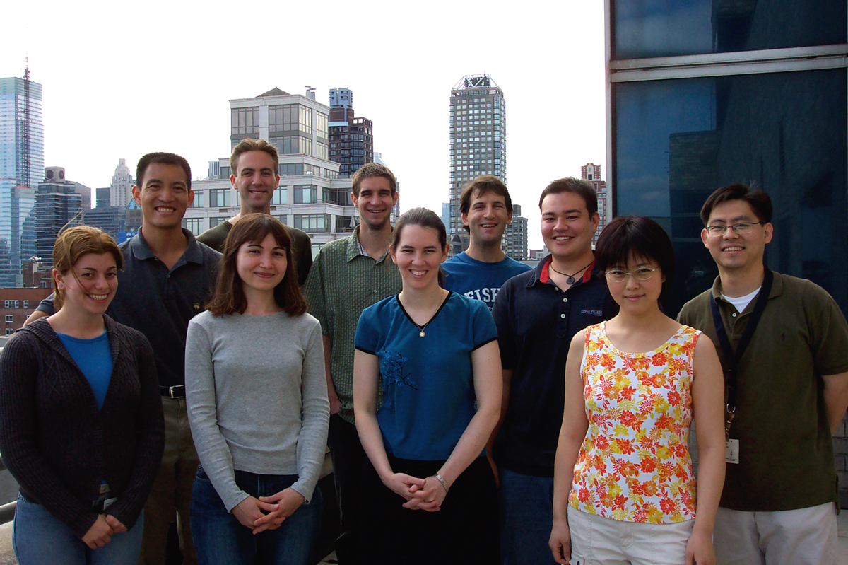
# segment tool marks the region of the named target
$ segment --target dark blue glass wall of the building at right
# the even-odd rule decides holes
[[[767,265],[848,313],[846,4],[607,0],[614,213],[671,236],[670,315],[717,276],[699,212],[732,182],[772,197]]]

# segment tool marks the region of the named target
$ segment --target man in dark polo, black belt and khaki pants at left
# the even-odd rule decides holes
[[[177,520],[183,563],[197,563],[188,529],[198,454],[186,413],[186,332],[215,288],[220,253],[182,228],[194,199],[192,171],[176,154],[151,153],[138,161],[132,198],[142,207],[142,228],[120,244],[124,270],[106,313],[143,333],[153,346],[165,414],[165,454],[144,506],[140,563],[165,562],[170,523]],[[53,297],[27,320],[53,314]]]

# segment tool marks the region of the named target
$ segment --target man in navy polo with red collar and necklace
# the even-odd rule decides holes
[[[505,565],[554,563],[548,538],[568,345],[575,333],[618,311],[594,270],[592,235],[600,219],[594,188],[572,177],[551,182],[539,209],[550,255],[505,282],[492,309],[504,372],[492,453]]]

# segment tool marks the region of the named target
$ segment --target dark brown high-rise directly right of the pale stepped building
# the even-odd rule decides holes
[[[374,161],[374,124],[354,117],[353,103],[349,88],[330,89],[330,160],[340,165],[338,176],[353,176]]]

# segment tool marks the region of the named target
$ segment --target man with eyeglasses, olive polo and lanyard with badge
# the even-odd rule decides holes
[[[717,562],[835,564],[831,434],[848,406],[845,316],[823,288],[763,264],[773,235],[767,193],[719,188],[700,217],[719,276],[678,322],[712,339],[725,375]]]

